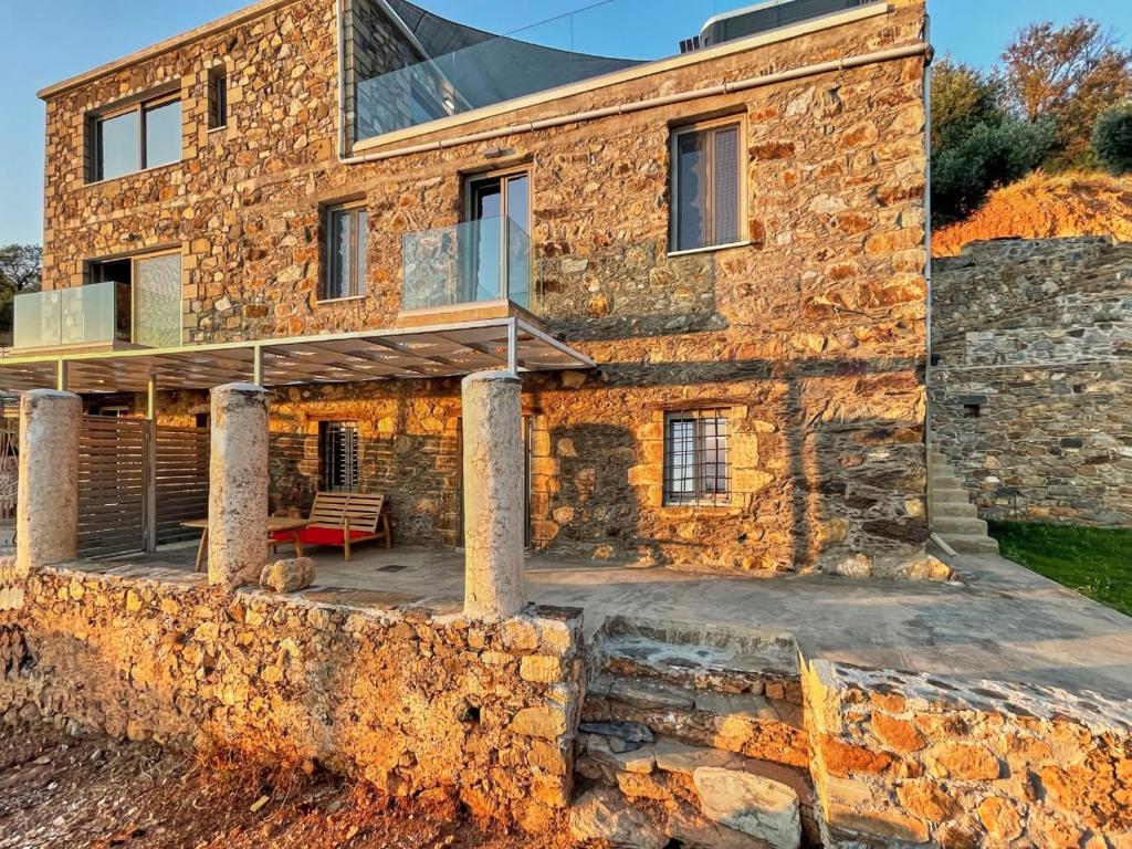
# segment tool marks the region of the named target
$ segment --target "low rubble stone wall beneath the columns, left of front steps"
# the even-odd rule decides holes
[[[580,611],[484,625],[393,594],[350,604],[66,568],[17,580],[7,560],[0,583],[5,722],[314,762],[504,821],[542,823],[569,798]]]

